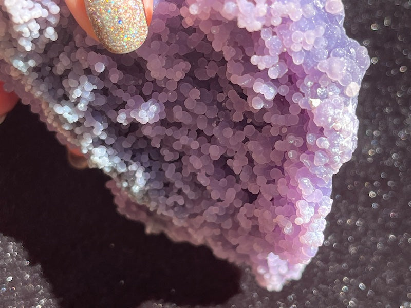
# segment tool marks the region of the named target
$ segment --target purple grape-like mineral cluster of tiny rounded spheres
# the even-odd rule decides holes
[[[160,1],[125,55],[63,1],[0,6],[5,88],[113,177],[120,213],[249,265],[268,290],[301,277],[370,63],[340,0]]]

